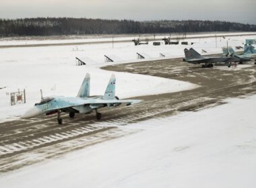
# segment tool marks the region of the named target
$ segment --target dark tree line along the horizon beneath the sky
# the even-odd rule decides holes
[[[256,32],[256,25],[229,21],[133,21],[71,17],[0,19],[0,37],[173,32]]]

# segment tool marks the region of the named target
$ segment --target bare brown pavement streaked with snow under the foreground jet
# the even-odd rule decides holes
[[[63,125],[57,117],[39,117],[0,124],[0,173],[6,173],[49,158],[57,158],[106,140],[119,138],[139,130],[127,125],[150,118],[164,118],[181,111],[197,111],[220,105],[228,97],[245,97],[256,93],[256,66],[237,68],[201,68],[180,58],[152,62],[115,64],[103,69],[167,79],[188,81],[201,87],[189,91],[138,97],[143,102],[112,110],[103,109],[102,120],[95,114],[63,115]],[[214,114],[213,114],[214,115]]]

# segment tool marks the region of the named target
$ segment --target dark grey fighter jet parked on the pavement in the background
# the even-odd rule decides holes
[[[212,67],[214,66],[213,63],[215,62],[224,62],[228,64],[228,62],[238,62],[239,59],[236,57],[228,57],[228,56],[201,56],[198,52],[196,52],[193,48],[190,48],[187,50],[187,48],[184,49],[185,58],[183,58],[183,61],[189,62],[192,64],[201,64],[203,68],[205,67]]]

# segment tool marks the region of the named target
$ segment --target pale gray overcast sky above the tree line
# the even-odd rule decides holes
[[[256,24],[256,0],[0,0],[1,18],[210,19]]]

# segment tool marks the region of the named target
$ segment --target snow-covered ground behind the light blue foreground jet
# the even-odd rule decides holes
[[[166,58],[184,56],[184,48],[193,47],[198,52],[201,49],[207,53],[221,53],[226,40],[231,46],[243,46],[245,38],[255,36],[230,36],[224,38],[189,39],[195,42],[191,45],[149,45],[134,46],[133,42],[113,44],[85,44],[67,46],[41,46],[28,48],[2,48],[0,50],[0,121],[12,120],[22,115],[26,109],[40,100],[40,89],[43,95],[75,96],[86,73],[91,74],[91,94],[102,95],[108,83],[111,72],[100,70],[100,66],[113,63],[139,62],[136,52],[145,54],[144,60],[159,60],[159,54]],[[209,34],[208,34],[209,36]],[[94,40],[94,39],[90,39]],[[106,40],[106,39],[97,39]],[[81,41],[81,40],[80,40]],[[217,41],[217,46],[216,46]],[[20,44],[26,40],[2,40],[1,44]],[[55,42],[54,40],[51,42]],[[63,41],[61,41],[63,42]],[[37,41],[37,44],[40,41]],[[104,62],[104,55],[114,57],[117,62]],[[84,60],[86,66],[75,66],[75,57]],[[154,95],[193,89],[197,87],[191,83],[156,78],[146,75],[131,75],[129,73],[115,73],[117,77],[117,95],[121,98],[141,95]],[[8,93],[26,89],[27,103],[10,106]]]

